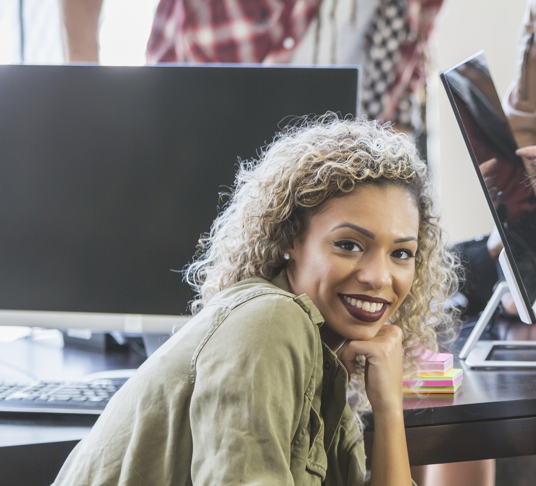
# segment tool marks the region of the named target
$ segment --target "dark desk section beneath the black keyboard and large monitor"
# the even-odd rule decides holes
[[[1,329],[0,329],[1,330]],[[89,373],[137,368],[145,356],[129,349],[106,354],[64,348],[52,330],[0,342],[0,379],[76,380]],[[47,486],[96,416],[0,413],[0,484]]]

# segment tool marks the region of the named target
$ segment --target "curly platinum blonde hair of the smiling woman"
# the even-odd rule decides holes
[[[413,285],[390,319],[404,332],[406,370],[414,370],[419,350],[437,350],[438,333],[453,329],[457,316],[445,303],[457,291],[458,265],[433,209],[427,166],[389,124],[328,114],[282,131],[258,160],[242,163],[230,200],[185,270],[198,292],[192,311],[242,279],[271,280],[306,216],[364,183],[404,187],[418,204]]]

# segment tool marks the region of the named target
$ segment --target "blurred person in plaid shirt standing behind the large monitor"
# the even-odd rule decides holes
[[[61,0],[66,60],[98,62],[103,0]],[[360,64],[362,114],[423,130],[443,0],[160,0],[147,63]]]

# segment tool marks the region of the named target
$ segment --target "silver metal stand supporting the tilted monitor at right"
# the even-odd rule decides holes
[[[475,324],[471,334],[467,338],[464,347],[461,348],[458,357],[465,359],[465,364],[472,368],[505,368],[505,367],[520,367],[534,368],[536,360],[493,360],[487,359],[494,349],[534,349],[536,357],[536,341],[480,341],[480,336],[488,325],[488,322],[493,318],[497,306],[501,303],[502,296],[509,291],[507,282],[500,282],[495,289],[492,297],[489,299],[485,309],[482,311],[479,320]]]

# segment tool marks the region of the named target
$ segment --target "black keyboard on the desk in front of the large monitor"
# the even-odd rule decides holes
[[[100,414],[126,379],[0,381],[0,411]]]

